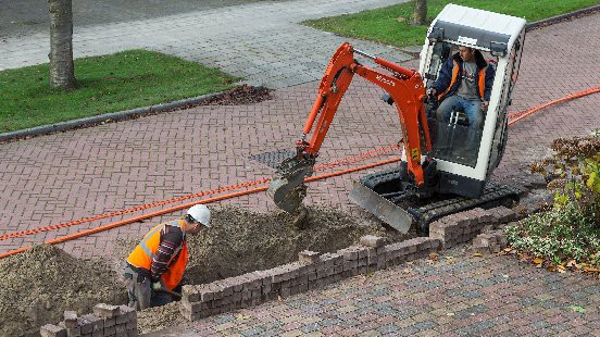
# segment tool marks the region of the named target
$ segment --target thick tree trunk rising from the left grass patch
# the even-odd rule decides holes
[[[73,65],[72,0],[48,0],[50,14],[50,86],[68,90],[75,86]]]

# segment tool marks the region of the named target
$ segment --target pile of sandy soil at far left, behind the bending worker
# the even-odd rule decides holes
[[[85,314],[100,302],[126,303],[109,266],[51,245],[0,260],[0,336],[39,336],[39,327],[62,321],[65,310]]]

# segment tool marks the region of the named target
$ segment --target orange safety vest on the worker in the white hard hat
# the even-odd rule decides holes
[[[185,224],[185,221],[176,220],[170,224],[160,224],[154,226],[154,228],[150,229],[150,232],[143,236],[138,246],[136,246],[134,251],[127,258],[127,262],[133,266],[145,269],[150,273],[152,258],[157,253],[159,245],[161,244],[161,230],[166,225],[179,227],[179,229],[184,233],[184,240],[182,241],[182,246],[179,246],[173,253],[171,261],[168,261],[166,272],[161,276],[161,279],[166,288],[170,290],[175,289],[184,277],[184,272],[188,261],[188,251],[184,232]],[[177,260],[173,261],[175,258],[177,258]]]

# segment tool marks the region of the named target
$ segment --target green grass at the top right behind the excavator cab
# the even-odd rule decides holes
[[[539,21],[600,3],[599,0],[427,0],[427,17],[429,21],[436,17],[449,2],[524,17],[527,22]],[[410,25],[412,12],[413,2],[407,2],[357,14],[310,20],[302,24],[340,36],[372,40],[389,46],[421,46],[425,40],[427,27]]]

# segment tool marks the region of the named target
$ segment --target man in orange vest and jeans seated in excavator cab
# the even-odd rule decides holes
[[[451,112],[463,110],[468,117],[467,147],[476,150],[477,130],[487,112],[496,70],[488,66],[480,51],[459,47],[459,52],[448,58],[428,93],[440,102],[437,121],[448,122]]]

